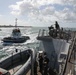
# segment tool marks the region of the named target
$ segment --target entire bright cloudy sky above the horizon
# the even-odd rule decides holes
[[[76,0],[0,0],[0,25],[76,27]]]

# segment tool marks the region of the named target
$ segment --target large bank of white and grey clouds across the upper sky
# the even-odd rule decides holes
[[[63,8],[59,9],[56,5]],[[76,20],[76,0],[22,0],[9,7],[13,15],[23,15],[44,22]]]

